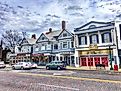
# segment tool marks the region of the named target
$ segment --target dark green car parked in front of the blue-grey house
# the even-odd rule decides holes
[[[46,64],[46,69],[66,69],[66,65],[63,63],[63,61],[52,61],[48,64]]]

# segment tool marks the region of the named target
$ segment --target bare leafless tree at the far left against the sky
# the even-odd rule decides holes
[[[22,33],[19,33],[16,30],[7,30],[2,34],[2,41],[8,48],[14,49],[15,45],[17,45],[22,38]]]

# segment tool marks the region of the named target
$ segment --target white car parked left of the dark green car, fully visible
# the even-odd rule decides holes
[[[13,69],[30,69],[31,65],[28,62],[18,62],[15,65],[12,65]]]

